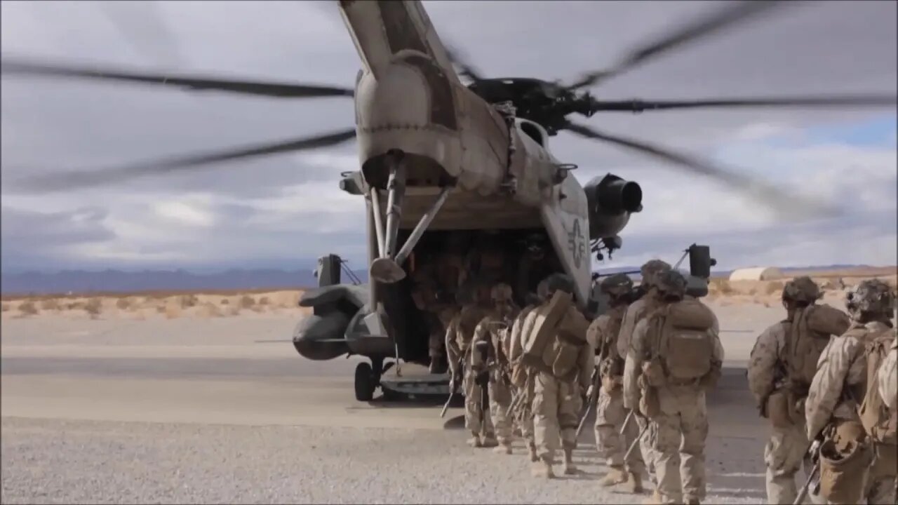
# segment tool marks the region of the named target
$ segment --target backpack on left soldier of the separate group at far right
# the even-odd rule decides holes
[[[786,341],[786,372],[793,385],[806,391],[817,373],[817,361],[831,335],[848,331],[849,316],[832,306],[797,309],[789,322]]]

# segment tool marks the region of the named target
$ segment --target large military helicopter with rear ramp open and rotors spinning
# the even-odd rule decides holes
[[[352,97],[356,126],[343,131],[228,152],[34,177],[20,181],[18,187],[73,190],[251,156],[335,146],[356,138],[360,169],[343,173],[339,188],[365,199],[370,279],[366,285],[342,283],[339,256],[322,258],[319,288],[306,292],[300,301],[301,306],[313,307],[313,315],[299,323],[293,342],[295,350],[307,359],[343,355],[369,358],[370,364],[359,363],[356,369],[359,401],[372,399],[378,386],[384,393],[447,392],[445,374],[403,378],[397,373],[396,378],[384,377],[384,372],[394,366],[398,372],[402,361],[431,361],[428,340],[433,333],[433,317],[416,301],[416,279],[428,267],[440,270],[444,265],[440,261],[447,254],[446,270],[454,272],[454,278],[449,275],[453,279],[432,296],[444,306],[462,303],[463,295],[454,288],[463,284],[459,278],[473,279],[487,270],[483,266],[488,256],[484,251],[489,248],[501,258],[497,279],[515,284],[504,268],[529,264],[531,270],[539,270],[536,267],[540,266],[542,273],[562,271],[570,275],[575,280],[577,304],[584,310],[595,301],[591,296],[591,253],[602,259],[603,254],[621,248],[619,234],[629,218],[643,210],[643,195],[638,182],[611,173],[585,185],[577,182],[570,175],[577,165],[560,161],[550,150],[550,137],[561,131],[648,155],[742,190],[752,188],[756,198],[776,208],[801,205],[794,195],[786,196],[742,173],[604,133],[569,120],[569,116],[710,107],[894,106],[896,102],[892,94],[614,101],[599,100],[584,91],[689,42],[757,17],[782,2],[727,3],[718,12],[630,51],[617,65],[587,73],[572,84],[482,77],[440,40],[418,0],[342,0],[335,4],[362,64],[354,89],[150,75],[10,58],[4,58],[3,73],[161,84],[277,98]],[[697,246],[691,252],[695,253],[692,273],[705,277],[712,262],[708,248]],[[522,302],[540,278],[527,271],[517,273],[525,278],[515,284],[519,286],[515,297]],[[435,275],[438,277],[439,272]],[[392,361],[384,364],[388,359]]]

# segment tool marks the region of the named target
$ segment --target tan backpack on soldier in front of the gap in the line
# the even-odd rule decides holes
[[[661,309],[661,332],[657,349],[666,378],[688,381],[711,371],[714,327],[711,309],[696,299],[684,299]]]

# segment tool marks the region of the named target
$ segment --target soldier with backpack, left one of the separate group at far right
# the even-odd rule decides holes
[[[840,310],[815,305],[820,297],[820,288],[810,278],[788,281],[782,291],[786,319],[758,336],[749,358],[749,389],[772,429],[764,447],[769,503],[795,501],[798,467],[804,461],[810,470],[803,404],[823,348],[850,323]]]

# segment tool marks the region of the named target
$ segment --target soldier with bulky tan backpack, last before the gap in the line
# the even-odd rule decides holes
[[[659,306],[637,324],[624,368],[624,394],[656,426],[656,497],[650,503],[698,504],[705,498],[705,392],[717,384],[724,350],[715,317],[684,299],[686,279],[675,270],[654,279]]]

